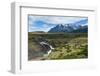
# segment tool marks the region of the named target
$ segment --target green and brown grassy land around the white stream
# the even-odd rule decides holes
[[[88,57],[87,33],[28,33],[28,59],[41,60],[38,38],[45,38],[54,50],[45,59],[79,59]]]

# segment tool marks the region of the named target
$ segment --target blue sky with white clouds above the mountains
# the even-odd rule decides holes
[[[82,22],[81,20],[85,20]],[[68,24],[79,22],[87,24],[88,20],[86,17],[62,17],[62,16],[28,16],[29,32],[32,31],[49,31],[52,27],[57,24]]]

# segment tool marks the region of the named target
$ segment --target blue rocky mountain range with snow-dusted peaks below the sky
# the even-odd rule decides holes
[[[55,27],[51,28],[48,32],[68,32],[68,33],[87,33],[88,32],[88,20],[80,20],[69,24],[57,24]]]

